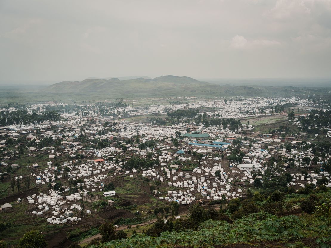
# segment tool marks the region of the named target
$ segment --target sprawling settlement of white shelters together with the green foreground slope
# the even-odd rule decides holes
[[[312,93],[2,104],[1,247],[327,247],[331,93]]]

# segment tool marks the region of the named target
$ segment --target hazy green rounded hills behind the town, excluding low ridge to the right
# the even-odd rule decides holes
[[[153,79],[135,78],[119,80],[118,78],[88,78],[83,81],[63,81],[44,89],[49,93],[86,94],[99,93],[114,97],[125,96],[177,96],[194,95],[195,92],[220,90],[220,86],[202,82],[190,77],[160,76]],[[200,94],[199,94],[200,95]]]

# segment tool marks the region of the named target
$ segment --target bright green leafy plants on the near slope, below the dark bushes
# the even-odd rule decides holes
[[[222,244],[256,243],[279,241],[283,244],[296,243],[301,238],[315,239],[316,243],[330,242],[330,226],[320,219],[311,220],[309,216],[285,216],[257,213],[239,219],[233,224],[225,221],[208,220],[200,224],[198,230],[163,232],[160,237],[146,234],[131,238],[114,240],[95,247],[213,247]],[[328,244],[325,244],[328,247]],[[290,247],[290,246],[289,246]],[[320,247],[323,247],[321,245]]]

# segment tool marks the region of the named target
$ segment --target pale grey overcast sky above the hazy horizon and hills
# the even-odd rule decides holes
[[[331,0],[0,0],[0,80],[331,76]]]

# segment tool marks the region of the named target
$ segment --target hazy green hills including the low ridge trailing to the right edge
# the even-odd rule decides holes
[[[149,97],[226,97],[226,96],[263,96],[289,97],[313,94],[330,95],[325,88],[319,90],[292,86],[264,85],[255,86],[220,85],[199,81],[191,77],[160,76],[156,78],[140,77],[120,80],[119,78],[88,78],[83,81],[64,81],[52,84],[40,91],[40,94],[52,94],[76,98],[149,98]]]

